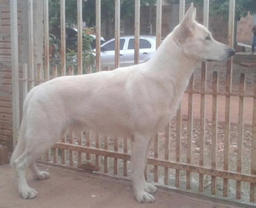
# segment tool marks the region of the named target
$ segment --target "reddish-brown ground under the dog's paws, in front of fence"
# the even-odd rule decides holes
[[[28,184],[39,194],[35,199],[24,200],[18,195],[14,171],[9,165],[0,166],[1,208],[240,207],[231,205],[231,202],[214,202],[202,196],[195,198],[161,188],[153,194],[156,200],[154,203],[138,203],[133,198],[130,181],[42,164],[39,164],[39,168],[49,171],[51,176],[46,181],[36,181],[27,172]]]

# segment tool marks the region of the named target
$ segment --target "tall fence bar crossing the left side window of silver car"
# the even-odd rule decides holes
[[[120,0],[115,0],[115,68],[120,66]]]

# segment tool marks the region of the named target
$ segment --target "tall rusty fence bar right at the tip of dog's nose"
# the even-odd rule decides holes
[[[235,0],[229,1],[229,25],[228,25],[228,45],[233,47],[234,37],[234,12]],[[232,57],[227,62],[226,69],[226,93],[231,92],[232,86]],[[224,170],[229,170],[229,144],[230,144],[230,96],[225,99],[225,136],[224,136]],[[228,179],[223,179],[223,196],[228,196]]]

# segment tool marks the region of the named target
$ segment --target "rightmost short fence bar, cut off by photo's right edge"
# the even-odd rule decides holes
[[[254,71],[254,94],[256,94],[256,72]],[[251,143],[251,175],[256,175],[256,98],[253,98],[253,137]],[[256,183],[250,183],[250,202],[256,202]]]

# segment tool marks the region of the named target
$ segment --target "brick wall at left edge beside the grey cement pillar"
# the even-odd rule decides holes
[[[18,32],[21,32],[18,6]],[[9,0],[0,0],[0,144],[13,148],[11,103],[11,40]]]

